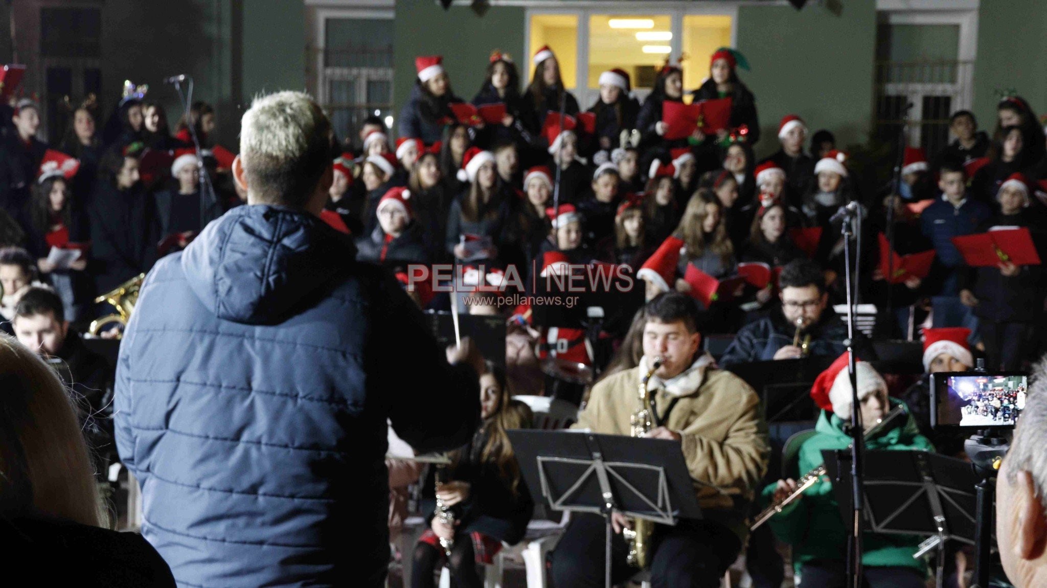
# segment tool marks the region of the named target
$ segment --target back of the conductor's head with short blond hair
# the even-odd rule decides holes
[[[241,119],[240,158],[252,201],[305,206],[332,164],[331,121],[304,92],[260,95]]]

